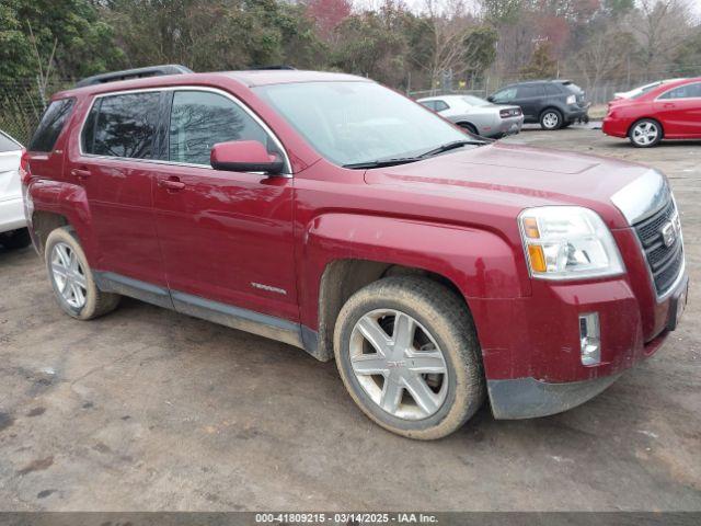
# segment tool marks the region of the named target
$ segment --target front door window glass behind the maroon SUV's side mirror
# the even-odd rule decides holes
[[[257,140],[281,155],[268,134],[230,99],[204,91],[176,91],[170,119],[169,159],[209,165],[211,147],[230,140]]]

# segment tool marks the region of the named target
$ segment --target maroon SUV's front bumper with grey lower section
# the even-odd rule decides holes
[[[545,416],[597,396],[652,356],[676,329],[688,283],[682,273],[666,299],[643,311],[625,276],[587,284],[537,282],[532,297],[512,299],[510,306],[472,301],[494,416]],[[642,283],[634,288],[643,286],[650,288]],[[582,363],[578,316],[586,312],[600,319],[597,365]]]

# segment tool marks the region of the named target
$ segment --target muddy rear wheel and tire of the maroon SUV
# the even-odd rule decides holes
[[[60,308],[78,320],[92,320],[114,310],[119,295],[95,285],[85,253],[70,227],[54,230],[44,252],[54,296]]]

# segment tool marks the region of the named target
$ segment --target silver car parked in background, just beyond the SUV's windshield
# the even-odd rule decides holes
[[[524,125],[520,107],[492,104],[474,95],[427,96],[416,102],[482,137],[518,134]]]

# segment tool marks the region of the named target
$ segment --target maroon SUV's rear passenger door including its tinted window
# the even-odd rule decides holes
[[[165,289],[152,188],[161,96],[145,90],[95,98],[67,172],[88,195],[100,252],[96,270]]]

